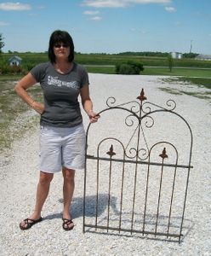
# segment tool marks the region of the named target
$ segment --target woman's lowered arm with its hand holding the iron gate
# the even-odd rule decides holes
[[[93,111],[93,102],[89,96],[89,89],[88,84],[84,85],[80,92],[82,98],[83,109],[88,114],[88,118],[90,119],[91,123],[97,122],[100,118],[100,115],[97,115]]]

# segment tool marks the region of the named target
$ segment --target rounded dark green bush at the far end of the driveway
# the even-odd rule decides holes
[[[127,61],[116,64],[116,73],[118,74],[140,74],[143,71],[143,64],[135,61]]]

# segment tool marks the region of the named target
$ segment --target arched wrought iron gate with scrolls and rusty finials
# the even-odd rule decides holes
[[[191,127],[174,112],[173,100],[165,108],[147,102],[143,89],[137,100],[117,104],[108,98],[99,122],[88,125],[83,232],[180,242],[192,168]]]

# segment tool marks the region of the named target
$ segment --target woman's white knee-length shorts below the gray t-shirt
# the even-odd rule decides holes
[[[83,169],[85,162],[85,131],[83,124],[60,128],[48,125],[40,127],[40,171],[60,172]]]

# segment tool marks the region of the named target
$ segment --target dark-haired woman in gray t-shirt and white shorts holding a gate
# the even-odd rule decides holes
[[[48,196],[55,172],[62,170],[64,177],[63,229],[72,230],[70,207],[74,191],[75,170],[84,166],[85,132],[78,96],[90,122],[99,118],[93,112],[89,97],[88,73],[74,62],[74,44],[68,32],[55,31],[49,39],[49,61],[31,69],[18,84],[16,93],[31,108],[41,114],[40,119],[40,177],[37,184],[35,209],[29,218],[20,223],[28,230],[43,218],[41,211]],[[44,104],[34,101],[27,89],[41,84]]]

